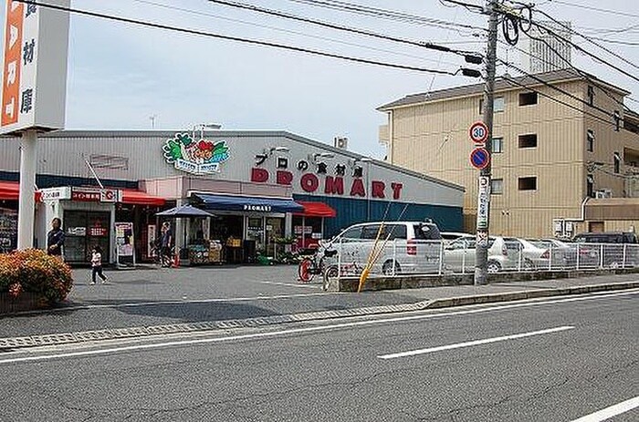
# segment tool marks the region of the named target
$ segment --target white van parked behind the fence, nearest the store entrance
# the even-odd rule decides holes
[[[374,272],[434,273],[439,269],[442,236],[434,222],[364,222],[340,232],[323,246],[337,249],[342,264],[363,268],[378,234],[378,248],[388,242],[376,260]]]

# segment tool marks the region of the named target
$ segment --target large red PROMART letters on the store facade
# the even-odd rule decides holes
[[[251,181],[257,183],[267,183],[270,180],[270,173],[266,169],[254,167],[251,169]],[[277,170],[275,174],[275,182],[278,185],[293,186],[295,178],[293,173],[288,170]],[[299,178],[299,187],[307,193],[323,192],[326,195],[344,195],[351,197],[366,198],[366,187],[361,178],[355,178],[351,182],[350,187],[344,186],[344,178],[341,176],[325,176],[323,180],[313,173],[304,173]],[[348,188],[348,190],[347,190]],[[399,200],[402,196],[403,183],[392,182],[387,186],[382,180],[372,180],[370,191],[371,198],[385,199],[392,197],[393,200]],[[348,192],[348,193],[345,193]]]

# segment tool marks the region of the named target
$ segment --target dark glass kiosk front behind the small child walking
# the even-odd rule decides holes
[[[102,249],[102,262],[110,262],[110,212],[65,211],[64,258],[69,263],[91,262],[91,250]]]

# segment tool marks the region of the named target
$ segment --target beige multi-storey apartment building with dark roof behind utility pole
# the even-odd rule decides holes
[[[585,75],[585,76],[582,76]],[[543,82],[539,82],[539,80]],[[634,230],[639,222],[639,115],[630,93],[570,69],[502,77],[495,96],[490,232],[571,237]],[[468,128],[482,118],[483,85],[400,98],[380,108],[391,164],[466,188],[475,231],[477,175]]]

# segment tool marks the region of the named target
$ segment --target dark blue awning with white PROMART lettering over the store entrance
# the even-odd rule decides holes
[[[259,196],[232,196],[197,193],[194,197],[203,202],[202,208],[218,211],[241,212],[303,212],[304,207],[287,198]]]

